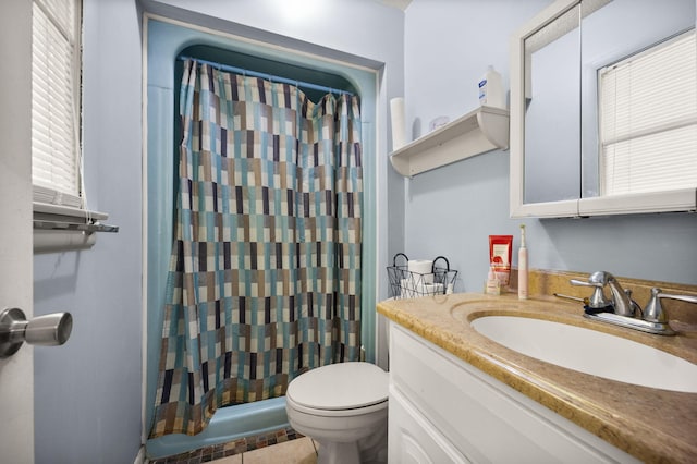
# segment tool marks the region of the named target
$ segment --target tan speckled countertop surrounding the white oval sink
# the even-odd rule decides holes
[[[586,319],[580,303],[553,296],[519,301],[514,294],[388,300],[378,304],[378,313],[641,461],[697,460],[697,393],[634,386],[545,363],[491,341],[468,322],[490,315],[536,317],[631,339],[697,364],[695,326],[673,326],[676,337],[652,335]]]

